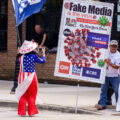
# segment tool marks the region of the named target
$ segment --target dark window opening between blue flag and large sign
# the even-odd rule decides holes
[[[31,39],[35,24],[40,24],[47,34],[46,46],[56,47],[63,0],[47,0],[43,9],[27,19],[27,39]]]

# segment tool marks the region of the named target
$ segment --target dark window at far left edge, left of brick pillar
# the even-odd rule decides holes
[[[8,0],[0,1],[0,51],[7,50]]]

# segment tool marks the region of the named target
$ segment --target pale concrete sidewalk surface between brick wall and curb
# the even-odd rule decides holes
[[[17,102],[16,96],[9,94],[12,86],[12,81],[0,81],[0,96],[2,96],[0,97],[0,101]],[[37,104],[75,107],[77,94],[76,86],[39,84],[38,91]],[[78,106],[91,106],[97,103],[99,92],[99,88],[80,87]]]

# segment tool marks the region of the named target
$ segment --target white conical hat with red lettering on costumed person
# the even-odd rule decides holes
[[[19,52],[21,54],[29,53],[29,52],[33,51],[34,49],[36,49],[37,47],[38,47],[38,43],[25,40],[23,42],[22,46],[20,47]]]

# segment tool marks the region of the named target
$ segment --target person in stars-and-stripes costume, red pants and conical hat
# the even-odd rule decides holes
[[[42,48],[42,58],[39,58],[35,50],[38,47],[36,42],[24,41],[19,53],[20,72],[18,76],[18,87],[16,96],[19,100],[18,115],[26,115],[26,104],[28,103],[28,115],[38,114],[35,105],[38,90],[37,76],[35,73],[35,63],[43,64],[46,61],[45,48]]]

